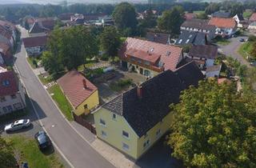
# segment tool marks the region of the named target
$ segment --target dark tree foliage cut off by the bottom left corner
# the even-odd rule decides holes
[[[10,145],[10,142],[6,142],[0,137],[0,162],[1,168],[15,167],[16,159],[14,158],[14,152]]]

